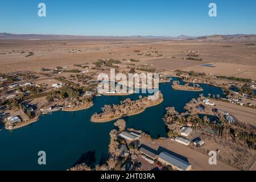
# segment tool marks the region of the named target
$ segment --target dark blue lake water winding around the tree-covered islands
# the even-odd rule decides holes
[[[179,78],[173,78],[178,80]],[[184,84],[179,79],[181,84]],[[173,90],[171,83],[162,83],[162,104],[146,109],[141,114],[124,118],[128,128],[133,127],[149,133],[151,137],[167,137],[163,117],[165,108],[174,106],[179,112],[192,98],[204,93],[220,94],[221,88],[200,84],[204,91],[186,92]],[[100,112],[107,104],[119,104],[126,98],[137,100],[140,95],[104,96],[94,98],[94,106],[87,110],[55,113],[40,117],[38,122],[14,131],[0,131],[0,170],[65,170],[74,164],[86,162],[98,164],[105,162],[108,154],[109,132],[114,129],[113,122],[92,123],[90,117]],[[38,152],[46,151],[46,166],[39,166]]]

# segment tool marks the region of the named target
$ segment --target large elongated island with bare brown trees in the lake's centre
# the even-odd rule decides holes
[[[92,122],[109,122],[126,116],[142,113],[147,107],[159,105],[163,102],[163,94],[159,91],[154,96],[142,97],[139,100],[131,101],[127,98],[121,101],[120,105],[105,105],[102,107],[102,113],[93,114]]]

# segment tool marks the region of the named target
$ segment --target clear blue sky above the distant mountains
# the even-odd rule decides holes
[[[38,3],[47,17],[38,16]],[[210,2],[216,18],[208,16]],[[0,32],[191,36],[256,34],[255,0],[1,0]]]

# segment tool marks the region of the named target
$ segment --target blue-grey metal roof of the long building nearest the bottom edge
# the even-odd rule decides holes
[[[161,154],[159,154],[158,158],[163,159],[164,161],[182,169],[183,171],[185,171],[189,166],[191,166],[191,164],[189,164],[188,162],[177,158],[174,155],[171,155],[167,152],[162,152]]]

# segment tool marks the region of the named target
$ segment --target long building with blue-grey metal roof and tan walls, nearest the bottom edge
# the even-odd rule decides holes
[[[172,168],[177,171],[190,171],[192,167],[191,164],[189,164],[185,160],[177,158],[176,156],[167,152],[162,152],[161,154],[159,154],[158,160],[165,165],[172,166]]]

